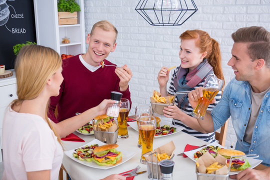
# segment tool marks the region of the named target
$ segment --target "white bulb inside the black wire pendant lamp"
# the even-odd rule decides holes
[[[178,0],[155,0],[156,9],[162,10],[163,15],[173,15],[179,7]]]

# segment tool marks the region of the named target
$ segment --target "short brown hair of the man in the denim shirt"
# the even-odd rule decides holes
[[[251,60],[264,59],[270,68],[270,32],[260,26],[242,27],[231,34],[234,42],[246,42]]]

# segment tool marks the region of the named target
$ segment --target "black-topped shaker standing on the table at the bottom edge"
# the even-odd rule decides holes
[[[164,159],[159,162],[161,177],[160,180],[172,180],[172,170],[174,162],[172,160]]]

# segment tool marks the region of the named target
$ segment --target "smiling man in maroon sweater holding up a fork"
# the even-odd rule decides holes
[[[131,107],[128,89],[131,70],[126,65],[116,68],[100,65],[100,61],[115,65],[105,58],[114,51],[116,37],[117,30],[109,21],[98,21],[87,35],[87,52],[63,59],[64,80],[59,95],[50,98],[48,112],[48,117],[55,123],[94,107],[103,99],[109,99],[110,91],[121,92],[122,98],[129,99]],[[55,118],[56,105],[58,114]]]

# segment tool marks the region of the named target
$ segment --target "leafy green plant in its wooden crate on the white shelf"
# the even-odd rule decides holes
[[[58,24],[76,24],[79,5],[75,0],[59,0],[57,2]]]

